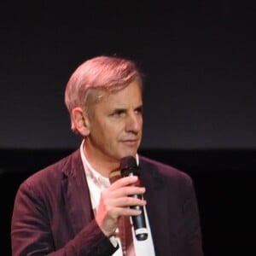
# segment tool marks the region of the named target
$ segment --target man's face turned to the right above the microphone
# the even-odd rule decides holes
[[[99,160],[120,160],[135,156],[142,140],[143,100],[136,81],[115,93],[101,93],[101,100],[90,107],[86,152]]]

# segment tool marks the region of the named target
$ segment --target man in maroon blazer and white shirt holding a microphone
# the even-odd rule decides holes
[[[67,83],[65,102],[80,147],[28,177],[17,191],[12,255],[201,256],[201,226],[191,177],[138,154],[143,78],[134,61],[98,56]],[[132,157],[136,175],[113,182]],[[137,195],[137,196],[133,196]],[[147,237],[121,240],[121,218],[145,218]]]

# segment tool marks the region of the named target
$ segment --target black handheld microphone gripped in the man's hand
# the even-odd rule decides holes
[[[121,176],[138,176],[139,177],[139,168],[137,162],[133,156],[126,156],[121,159],[120,163]],[[135,186],[140,186],[140,180],[137,180]],[[142,195],[131,195],[132,197],[142,199]],[[143,241],[148,238],[148,230],[145,221],[144,208],[140,206],[132,206],[131,209],[140,210],[142,213],[137,216],[131,216],[133,230],[138,241]]]

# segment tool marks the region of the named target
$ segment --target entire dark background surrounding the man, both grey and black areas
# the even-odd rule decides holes
[[[231,0],[2,1],[0,255],[11,255],[20,182],[79,146],[64,89],[95,55],[145,74],[141,153],[193,177],[206,256],[255,251],[255,11]]]

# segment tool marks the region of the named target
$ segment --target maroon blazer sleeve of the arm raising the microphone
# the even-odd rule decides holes
[[[118,248],[113,247],[93,219],[65,246],[56,250],[44,198],[27,183],[20,185],[15,196],[11,243],[12,256],[111,255]]]

